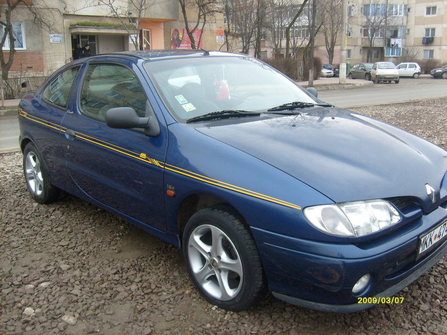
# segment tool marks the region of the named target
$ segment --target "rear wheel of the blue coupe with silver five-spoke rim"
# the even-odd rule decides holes
[[[23,174],[34,201],[51,203],[63,195],[59,188],[51,184],[45,162],[33,143],[28,143],[23,151]]]

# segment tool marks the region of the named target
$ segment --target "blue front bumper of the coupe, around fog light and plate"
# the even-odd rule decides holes
[[[315,310],[351,313],[374,305],[358,303],[360,297],[393,296],[447,253],[446,239],[417,258],[419,236],[447,218],[444,207],[401,231],[360,244],[323,243],[257,228],[252,232],[277,298]],[[370,283],[353,294],[352,287],[367,273]]]

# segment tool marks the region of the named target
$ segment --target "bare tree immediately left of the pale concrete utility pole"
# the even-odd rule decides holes
[[[322,22],[321,32],[325,36],[329,64],[332,64],[337,37],[342,30],[342,0],[319,0],[317,16]]]

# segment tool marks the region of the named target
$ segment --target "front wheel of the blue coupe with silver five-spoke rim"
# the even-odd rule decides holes
[[[241,311],[265,296],[266,279],[258,248],[247,224],[233,208],[221,204],[195,213],[182,240],[189,276],[207,301]]]

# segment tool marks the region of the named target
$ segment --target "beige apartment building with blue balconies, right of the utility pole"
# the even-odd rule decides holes
[[[349,0],[347,61],[397,64],[407,52],[447,62],[446,9],[446,0]]]

